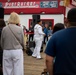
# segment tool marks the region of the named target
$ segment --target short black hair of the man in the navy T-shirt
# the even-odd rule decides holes
[[[69,22],[76,22],[76,8],[72,8],[68,11],[67,19]]]

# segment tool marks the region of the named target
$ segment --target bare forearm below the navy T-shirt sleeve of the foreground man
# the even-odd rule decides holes
[[[54,57],[46,54],[46,68],[49,72],[49,75],[53,75],[53,59]]]

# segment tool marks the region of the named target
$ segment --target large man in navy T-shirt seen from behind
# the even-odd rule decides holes
[[[49,75],[76,75],[75,33],[76,8],[72,8],[67,15],[67,28],[55,32],[46,47],[46,66]]]

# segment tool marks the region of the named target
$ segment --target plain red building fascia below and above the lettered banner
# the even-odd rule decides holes
[[[6,2],[7,0],[0,0],[0,2]],[[10,0],[11,2],[31,2],[31,1],[41,1],[41,0]],[[47,1],[47,0],[43,0]],[[60,0],[58,0],[60,2]],[[10,14],[11,12],[17,12],[24,14],[41,14],[42,12],[45,12],[45,14],[65,14],[65,7],[59,6],[58,8],[19,8],[19,9],[5,9],[5,14]]]

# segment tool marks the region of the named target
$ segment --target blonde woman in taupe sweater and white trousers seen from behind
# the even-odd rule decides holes
[[[1,35],[1,47],[3,49],[3,75],[24,75],[23,73],[23,47],[24,35],[19,15],[12,12],[9,17],[9,25],[3,28]]]

